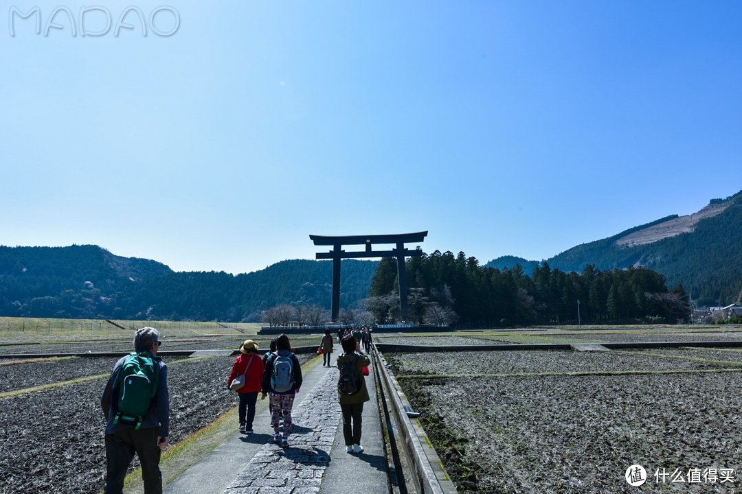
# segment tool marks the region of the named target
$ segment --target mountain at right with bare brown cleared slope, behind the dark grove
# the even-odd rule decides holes
[[[506,256],[486,265],[512,268],[518,259]],[[519,264],[531,274],[534,262]],[[742,191],[712,199],[692,215],[660,218],[545,262],[577,272],[588,264],[598,270],[647,267],[665,276],[669,287],[683,284],[699,305],[731,304],[742,292]]]

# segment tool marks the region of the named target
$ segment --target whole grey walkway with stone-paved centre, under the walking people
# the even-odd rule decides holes
[[[360,455],[345,450],[337,382],[337,367],[318,365],[304,376],[288,448],[273,443],[263,405],[254,434],[233,435],[168,484],[165,494],[334,494],[356,487],[364,494],[389,493],[373,374],[366,378],[371,400],[364,406]]]

